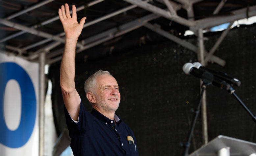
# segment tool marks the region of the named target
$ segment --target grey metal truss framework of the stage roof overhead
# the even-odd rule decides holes
[[[44,21],[44,22],[42,22],[42,23],[40,23],[38,25],[34,25],[34,26],[31,26],[31,27],[27,27],[27,26],[20,25],[20,24],[17,24],[17,23],[9,21],[10,19],[12,19],[14,17],[17,17],[17,16],[19,16],[21,14],[24,14],[24,13],[26,13],[28,11],[36,9],[36,8],[38,8],[38,7],[42,6],[42,5],[45,5],[47,3],[50,3],[52,1],[53,0],[43,1],[41,3],[38,3],[37,5],[34,5],[34,6],[30,7],[30,8],[24,9],[24,10],[19,11],[19,12],[15,13],[15,14],[13,14],[11,16],[8,16],[5,19],[0,19],[0,23],[1,24],[21,30],[18,33],[15,33],[13,35],[5,37],[4,39],[1,39],[0,43],[8,41],[8,40],[10,40],[10,39],[12,39],[14,37],[17,37],[17,36],[19,36],[21,34],[24,34],[24,33],[31,33],[31,34],[43,37],[43,38],[45,38],[44,40],[41,40],[41,41],[39,41],[37,43],[33,43],[33,44],[25,46],[25,47],[13,47],[13,46],[10,46],[10,45],[3,45],[3,44],[0,44],[0,46],[5,46],[6,49],[9,49],[9,50],[12,50],[12,51],[16,51],[16,52],[18,52],[19,56],[22,56],[22,54],[28,53],[27,50],[29,50],[31,48],[34,48],[34,47],[39,46],[39,45],[44,44],[44,43],[48,43],[48,42],[54,41],[53,43],[49,43],[48,45],[44,46],[43,48],[39,49],[38,51],[29,52],[29,56],[25,57],[25,58],[28,59],[28,60],[31,60],[31,61],[35,61],[35,60],[37,60],[37,58],[38,58],[38,56],[39,56],[39,54],[41,52],[45,52],[45,53],[47,53],[47,55],[46,55],[46,62],[51,63],[51,62],[55,62],[56,60],[58,60],[56,58],[54,58],[54,60],[51,60],[51,59],[52,59],[52,57],[61,54],[61,52],[56,52],[56,51],[52,52],[51,50],[53,48],[57,47],[58,45],[64,43],[64,37],[63,37],[64,36],[64,32],[59,33],[57,35],[53,35],[53,34],[49,34],[49,33],[43,32],[43,31],[38,31],[36,29],[39,26],[47,25],[47,24],[49,24],[49,23],[51,23],[53,21],[58,20],[59,19],[58,16],[55,16],[55,17],[53,17],[53,18],[51,18],[49,20],[46,20],[46,21]],[[87,6],[90,7],[92,5],[100,3],[102,1],[104,1],[104,0],[95,0],[93,2],[90,2]],[[166,19],[169,19],[171,21],[177,22],[177,23],[182,24],[184,26],[189,26],[190,29],[192,31],[194,31],[196,35],[198,33],[198,29],[199,28],[207,28],[207,27],[217,26],[217,25],[220,25],[220,24],[223,24],[223,23],[232,22],[232,21],[235,21],[235,20],[239,20],[239,19],[243,19],[243,18],[247,18],[247,17],[255,16],[256,15],[256,6],[252,6],[252,7],[249,7],[249,8],[244,8],[244,9],[239,9],[239,10],[236,10],[236,11],[232,11],[231,15],[228,15],[228,16],[220,16],[220,17],[216,16],[216,17],[204,18],[204,19],[200,19],[200,20],[196,20],[195,21],[194,18],[193,18],[194,14],[193,14],[192,6],[193,6],[194,3],[197,3],[197,2],[202,1],[202,0],[176,0],[176,2],[179,2],[180,4],[177,4],[176,2],[173,2],[173,1],[170,1],[170,0],[157,0],[158,2],[166,4],[167,10],[166,9],[158,8],[158,7],[156,7],[156,6],[152,5],[152,4],[147,3],[147,2],[149,2],[149,0],[147,0],[147,1],[142,1],[142,0],[124,0],[124,1],[129,2],[132,5],[128,6],[128,7],[125,7],[123,9],[117,10],[117,11],[115,11],[113,13],[110,13],[110,14],[105,15],[103,17],[100,17],[98,19],[95,19],[93,21],[90,21],[90,22],[86,23],[84,25],[84,27],[93,25],[93,24],[98,23],[100,21],[103,21],[103,20],[105,20],[107,18],[113,17],[113,16],[115,16],[117,14],[120,14],[120,13],[125,12],[125,11],[130,10],[130,9],[133,9],[135,7],[140,7],[142,9],[146,9],[146,10],[148,10],[148,11],[154,13],[154,14],[157,14],[158,17],[165,17]],[[224,6],[225,2],[226,2],[226,0],[222,0],[219,3],[218,7],[213,12],[213,14],[218,14],[220,9]],[[181,9],[181,7],[183,9],[187,10],[188,19],[185,19],[185,18],[180,17],[180,16],[177,15],[177,10]],[[85,8],[85,6],[77,7],[77,11],[80,11],[80,10],[82,10],[84,8]],[[247,12],[247,14],[246,14],[246,12]],[[72,13],[72,10],[71,10],[71,13]],[[137,19],[137,20],[139,21],[140,19]],[[129,25],[129,24],[127,24],[127,26],[131,26],[130,28],[132,30],[134,29],[134,27],[136,27],[136,26]],[[149,23],[146,23],[146,27],[149,28]],[[113,31],[114,29],[116,29],[116,28],[110,29],[109,31]],[[108,31],[106,31],[106,32],[108,32]],[[129,31],[125,31],[125,32],[129,32]],[[228,31],[226,31],[226,33],[227,32]],[[157,33],[159,33],[159,32],[157,32]],[[100,43],[103,43],[105,41],[108,41],[108,40],[113,39],[114,37],[116,37],[116,35],[115,35],[115,36],[111,36],[111,37],[107,36],[106,38],[103,38],[102,34],[104,34],[104,33],[94,35],[94,36],[92,36],[92,37],[90,37],[88,39],[84,39],[83,42],[77,43],[78,51],[80,52],[82,50],[86,50],[86,49],[88,49],[88,48],[90,48],[92,46],[98,45]],[[161,31],[160,34],[165,36],[165,37],[171,35],[168,32],[162,32],[162,31]],[[214,62],[216,62],[216,63],[218,63],[218,64],[220,64],[222,66],[225,64],[224,60],[219,59],[216,56],[213,56],[214,51],[217,49],[218,45],[221,43],[221,41],[223,40],[224,36],[225,35],[223,34],[220,37],[221,39],[219,39],[217,41],[218,43],[215,44],[215,46],[212,48],[212,50],[210,51],[209,54],[207,54],[207,53],[205,54],[207,56],[205,58],[205,61],[214,61]],[[100,39],[99,39],[99,37],[100,37]],[[175,41],[178,41],[178,40],[175,39]],[[187,44],[187,43],[184,44],[185,41],[183,41],[183,40],[181,40],[180,42],[176,42],[176,43],[181,44],[181,45],[183,45],[183,46],[185,46],[187,48],[190,47],[189,49],[191,49],[191,50],[193,49],[192,51],[197,51],[198,50],[198,47],[195,47],[195,45],[188,46],[189,44]],[[193,48],[191,48],[191,47],[193,47]],[[61,51],[61,49],[57,50],[57,51]],[[8,51],[6,51],[6,52],[8,52]]]

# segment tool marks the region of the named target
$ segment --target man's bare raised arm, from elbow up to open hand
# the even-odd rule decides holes
[[[76,43],[86,17],[77,22],[76,7],[72,6],[72,17],[68,4],[61,6],[59,17],[65,31],[65,47],[61,61],[60,83],[65,107],[70,117],[77,121],[79,115],[80,97],[75,89],[75,50]]]

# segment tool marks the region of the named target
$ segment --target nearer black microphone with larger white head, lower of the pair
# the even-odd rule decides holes
[[[183,71],[186,74],[191,74],[195,77],[201,78],[202,80],[208,80],[209,83],[212,83],[213,85],[219,87],[219,88],[223,88],[225,90],[229,90],[230,89],[230,84],[226,83],[224,80],[214,76],[212,73],[206,71],[206,70],[202,70],[202,69],[198,69],[195,67],[194,64],[192,63],[185,63],[183,65]]]

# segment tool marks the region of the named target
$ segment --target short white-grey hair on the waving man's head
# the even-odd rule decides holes
[[[84,89],[85,89],[86,94],[88,92],[92,92],[93,94],[95,94],[94,93],[95,80],[96,80],[97,76],[104,75],[104,74],[111,75],[108,71],[98,70],[97,72],[92,74],[89,78],[87,78],[87,80],[85,81],[85,84],[84,84]]]

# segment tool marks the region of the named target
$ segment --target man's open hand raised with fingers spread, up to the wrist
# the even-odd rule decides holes
[[[65,7],[61,6],[61,9],[59,9],[59,17],[64,28],[66,39],[78,39],[85,24],[86,17],[83,17],[80,23],[77,22],[76,7],[74,5],[72,5],[72,11],[71,17],[68,4],[65,4]]]

